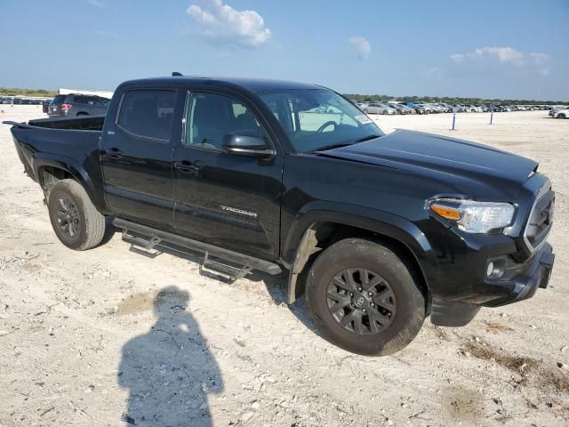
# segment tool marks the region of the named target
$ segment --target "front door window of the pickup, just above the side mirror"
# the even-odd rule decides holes
[[[221,149],[223,136],[228,133],[263,137],[259,121],[241,101],[215,93],[191,93],[185,145]]]

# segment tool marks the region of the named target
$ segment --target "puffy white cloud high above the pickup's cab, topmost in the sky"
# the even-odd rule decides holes
[[[265,20],[255,11],[236,11],[222,0],[202,0],[186,11],[207,40],[222,44],[256,47],[270,38]]]

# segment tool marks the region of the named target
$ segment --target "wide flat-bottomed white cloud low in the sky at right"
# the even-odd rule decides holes
[[[549,75],[550,57],[547,53],[521,52],[509,46],[480,47],[472,52],[454,53],[451,60],[457,67],[473,70],[517,70]]]

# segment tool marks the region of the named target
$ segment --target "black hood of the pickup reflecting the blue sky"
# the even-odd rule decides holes
[[[493,177],[523,185],[538,163],[525,157],[431,133],[398,130],[340,149],[329,157],[395,167],[410,172],[447,173],[462,177]],[[485,180],[484,180],[485,181]]]

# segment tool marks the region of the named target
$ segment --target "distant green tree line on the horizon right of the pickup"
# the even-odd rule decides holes
[[[390,95],[363,95],[360,93],[344,93],[349,100],[364,102],[445,102],[445,104],[491,104],[491,105],[557,105],[569,104],[569,101],[535,101],[535,100],[501,100],[500,98],[462,98],[450,96],[390,96]]]

